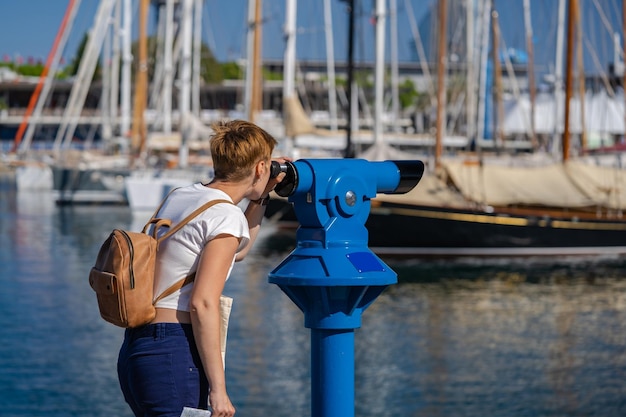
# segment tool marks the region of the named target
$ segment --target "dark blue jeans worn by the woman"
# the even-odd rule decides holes
[[[207,408],[209,386],[190,324],[126,329],[117,374],[137,417],[180,417],[183,407]]]

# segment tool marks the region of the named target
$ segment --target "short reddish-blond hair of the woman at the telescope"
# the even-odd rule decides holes
[[[210,140],[215,178],[241,181],[261,160],[272,157],[276,139],[254,123],[244,120],[214,123]]]

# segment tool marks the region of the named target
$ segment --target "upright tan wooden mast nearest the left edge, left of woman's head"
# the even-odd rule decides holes
[[[148,88],[148,8],[150,0],[139,2],[139,41],[137,70],[135,72],[135,100],[133,108],[133,124],[131,133],[131,155],[137,158],[144,150],[146,143],[146,122],[144,111],[147,102]]]

